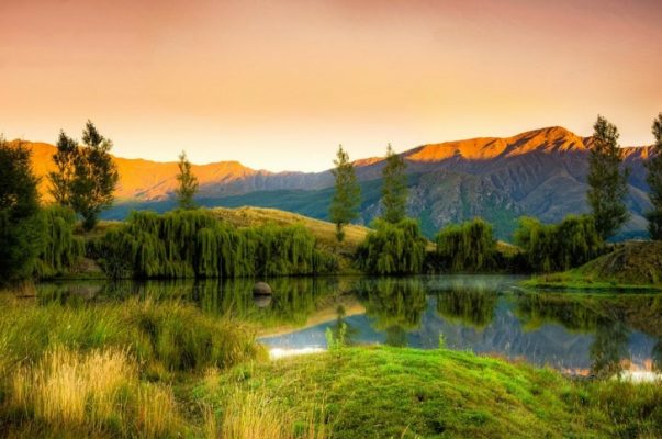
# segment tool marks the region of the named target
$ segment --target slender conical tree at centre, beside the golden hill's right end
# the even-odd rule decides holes
[[[338,146],[338,153],[334,160],[335,169],[332,170],[336,179],[336,192],[332,199],[329,216],[336,224],[336,238],[338,243],[345,238],[343,227],[359,216],[358,206],[361,202],[361,188],[357,180],[354,165],[349,161],[349,155]]]

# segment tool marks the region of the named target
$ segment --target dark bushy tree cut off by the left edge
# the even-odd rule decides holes
[[[0,282],[32,274],[43,245],[37,178],[30,150],[0,137]]]

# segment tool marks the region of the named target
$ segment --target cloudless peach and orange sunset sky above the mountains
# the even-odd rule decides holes
[[[659,0],[0,0],[0,133],[92,120],[122,157],[318,171],[662,111]]]

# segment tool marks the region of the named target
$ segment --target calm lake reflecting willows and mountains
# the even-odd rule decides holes
[[[141,299],[193,302],[204,313],[255,323],[272,356],[349,345],[471,350],[572,375],[662,369],[662,294],[525,291],[517,277],[279,278],[270,297],[255,280],[51,282],[37,301],[80,306]]]

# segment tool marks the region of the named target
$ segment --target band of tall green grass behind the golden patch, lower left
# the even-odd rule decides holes
[[[38,306],[2,295],[0,314],[2,357],[8,363],[35,361],[56,346],[79,351],[126,349],[145,371],[226,368],[262,354],[251,327],[205,316],[176,301],[132,299],[71,307]]]

